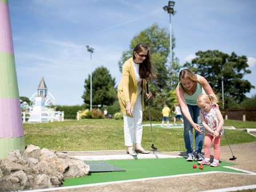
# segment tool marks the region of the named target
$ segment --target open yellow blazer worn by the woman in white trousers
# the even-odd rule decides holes
[[[144,93],[146,90],[146,79],[142,79],[142,110],[144,109]],[[129,116],[126,112],[126,102],[130,101],[131,106],[134,107],[137,101],[137,81],[133,67],[133,58],[128,59],[123,64],[122,79],[118,84],[117,93],[119,105],[123,114]]]

